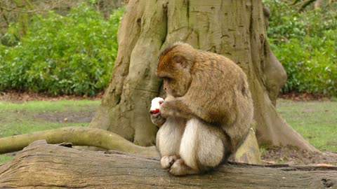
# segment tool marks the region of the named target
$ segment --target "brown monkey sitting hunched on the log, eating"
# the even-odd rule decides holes
[[[151,115],[159,127],[161,167],[183,176],[226,162],[253,119],[244,71],[227,57],[176,42],[160,53],[156,75],[167,94],[159,113]]]

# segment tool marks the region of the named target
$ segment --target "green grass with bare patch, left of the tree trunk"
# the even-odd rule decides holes
[[[0,137],[53,130],[60,127],[85,127],[89,125],[90,121],[90,118],[86,118],[86,116],[95,112],[99,104],[98,100],[20,103],[0,101]],[[68,120],[65,121],[65,119]],[[0,163],[11,160],[12,157],[11,155],[0,155]]]

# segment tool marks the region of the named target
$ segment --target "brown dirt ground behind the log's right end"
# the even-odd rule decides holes
[[[273,147],[263,152],[265,164],[337,165],[336,152],[308,152],[291,146]]]

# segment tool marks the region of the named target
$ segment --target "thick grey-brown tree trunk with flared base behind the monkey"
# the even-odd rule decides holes
[[[169,43],[185,41],[194,48],[229,57],[246,72],[259,143],[317,151],[272,104],[283,85],[277,79],[271,82],[274,68],[284,69],[273,63],[276,58],[267,43],[261,1],[130,1],[118,41],[112,80],[90,127],[115,132],[134,144],[153,145],[157,127],[148,111],[151,99],[163,94],[161,80],[154,74],[157,57]]]

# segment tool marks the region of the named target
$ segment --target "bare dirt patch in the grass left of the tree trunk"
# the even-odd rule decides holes
[[[90,123],[95,111],[62,111],[37,113],[33,118],[60,123]]]

